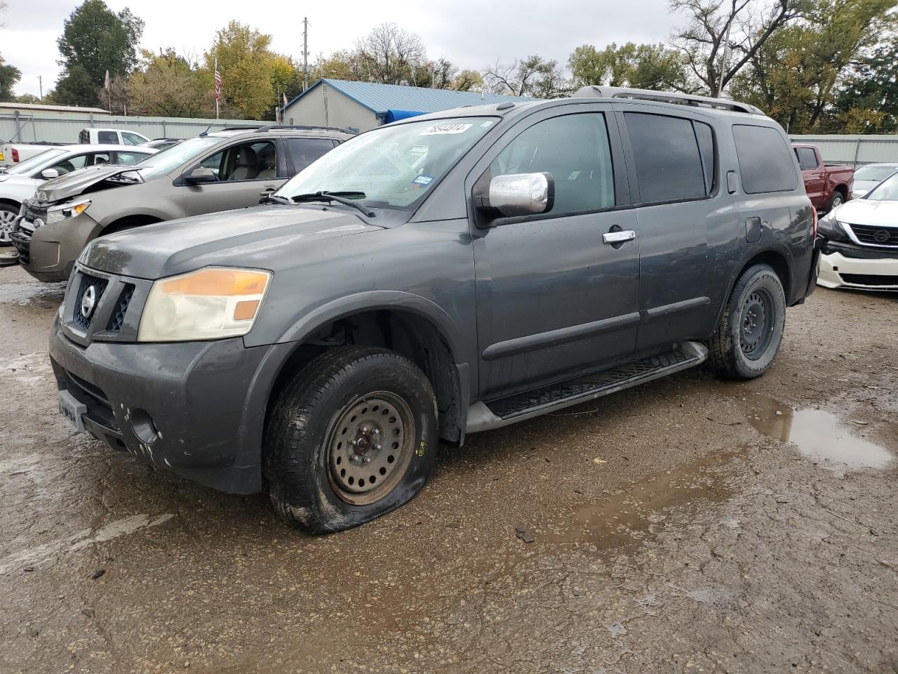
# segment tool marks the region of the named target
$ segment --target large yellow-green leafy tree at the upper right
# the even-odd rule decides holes
[[[790,133],[876,122],[876,103],[843,110],[840,120],[835,102],[852,64],[876,49],[894,25],[893,6],[894,0],[816,0],[801,20],[782,27],[753,55],[731,93],[756,104]]]

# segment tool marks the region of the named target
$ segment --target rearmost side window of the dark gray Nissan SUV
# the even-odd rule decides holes
[[[735,154],[742,174],[742,189],[746,194],[795,190],[798,176],[795,161],[777,129],[733,126]]]

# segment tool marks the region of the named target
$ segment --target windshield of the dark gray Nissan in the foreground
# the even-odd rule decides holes
[[[277,194],[291,198],[317,191],[360,191],[368,206],[413,210],[495,123],[492,118],[458,117],[369,131],[309,164]]]

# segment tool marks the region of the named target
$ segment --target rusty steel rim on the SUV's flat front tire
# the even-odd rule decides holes
[[[359,396],[330,423],[330,487],[342,501],[369,505],[392,492],[414,455],[415,419],[409,405],[388,391]]]

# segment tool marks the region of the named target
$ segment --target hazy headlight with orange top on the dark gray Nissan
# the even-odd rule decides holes
[[[249,333],[270,271],[207,267],[154,281],[137,341],[217,340]]]

